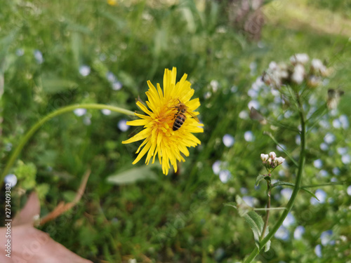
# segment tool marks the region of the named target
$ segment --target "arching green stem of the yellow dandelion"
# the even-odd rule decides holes
[[[50,114],[44,116],[44,118],[40,119],[37,123],[28,130],[28,132],[25,134],[24,137],[20,140],[20,143],[18,146],[15,148],[13,153],[10,156],[10,159],[8,159],[6,166],[3,170],[3,172],[0,175],[0,186],[4,182],[4,177],[7,175],[8,170],[13,166],[13,163],[17,159],[18,155],[22,151],[23,147],[25,147],[25,144],[28,142],[28,140],[32,137],[32,135],[44,124],[46,121],[49,121],[53,119],[53,117],[58,116],[60,114],[64,114],[66,112],[72,112],[74,109],[110,109],[112,112],[119,112],[121,114],[126,114],[126,115],[131,115],[134,116],[134,112],[129,111],[128,109],[123,109],[120,107],[114,107],[111,105],[105,105],[105,104],[74,104],[74,105],[69,105],[66,107],[62,107],[60,109],[56,109],[54,112],[51,112]]]

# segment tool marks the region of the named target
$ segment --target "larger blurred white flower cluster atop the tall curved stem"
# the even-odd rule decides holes
[[[307,54],[301,53],[291,56],[291,65],[272,61],[263,73],[262,80],[275,89],[290,83],[301,84],[303,81],[306,81],[311,88],[315,88],[322,83],[323,77],[329,76],[331,69],[327,68],[322,60],[314,58],[310,63],[310,69],[306,70],[309,60]]]

